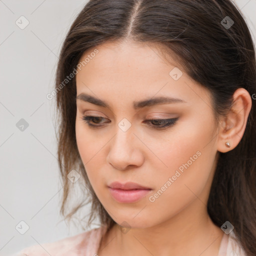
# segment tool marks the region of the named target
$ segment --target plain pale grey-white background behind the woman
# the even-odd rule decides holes
[[[254,39],[256,0],[235,2]],[[0,0],[0,255],[84,231],[68,228],[58,213],[54,97],[46,94],[54,88],[61,42],[85,3]],[[21,15],[29,20],[24,29],[15,24]],[[29,124],[24,131],[16,127],[21,118]],[[21,220],[29,226],[24,234],[15,229]]]

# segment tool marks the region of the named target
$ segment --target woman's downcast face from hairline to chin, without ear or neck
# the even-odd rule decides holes
[[[77,69],[75,132],[98,199],[114,221],[131,227],[160,224],[188,208],[206,214],[217,152],[209,91],[152,44],[96,49]],[[176,99],[157,103],[163,97]],[[87,120],[95,126],[83,116],[95,116]],[[110,189],[114,181],[150,189]]]

